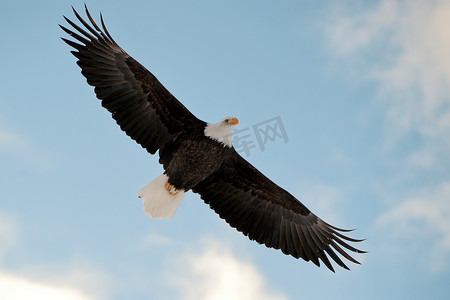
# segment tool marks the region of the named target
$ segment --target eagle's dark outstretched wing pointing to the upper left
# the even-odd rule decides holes
[[[117,45],[101,15],[103,30],[87,8],[90,24],[75,9],[73,12],[84,29],[66,17],[73,30],[60,27],[81,44],[62,39],[77,50],[72,54],[78,58],[81,73],[127,135],[154,154],[181,132],[204,126],[152,73]]]

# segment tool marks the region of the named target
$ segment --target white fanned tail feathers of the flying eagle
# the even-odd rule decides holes
[[[172,219],[186,194],[183,190],[177,191],[177,194],[170,194],[166,190],[168,179],[167,175],[162,174],[138,192],[145,213],[153,219]]]

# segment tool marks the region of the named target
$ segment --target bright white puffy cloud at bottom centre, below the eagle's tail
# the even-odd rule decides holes
[[[178,272],[167,276],[179,292],[180,299],[287,299],[267,287],[267,282],[253,264],[237,258],[218,241],[207,242],[201,252],[185,253],[175,264]]]

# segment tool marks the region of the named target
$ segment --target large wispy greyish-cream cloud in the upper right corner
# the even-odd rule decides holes
[[[378,83],[394,140],[414,132],[450,147],[449,27],[448,1],[388,0],[348,9],[327,27],[334,53],[359,62],[358,76]]]

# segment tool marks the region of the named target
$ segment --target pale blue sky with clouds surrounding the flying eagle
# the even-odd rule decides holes
[[[446,299],[447,1],[89,1],[199,118],[280,117],[247,159],[367,238],[331,273],[250,242],[197,195],[152,220],[162,173],[59,37],[78,1],[0,4],[0,295],[7,299]]]

